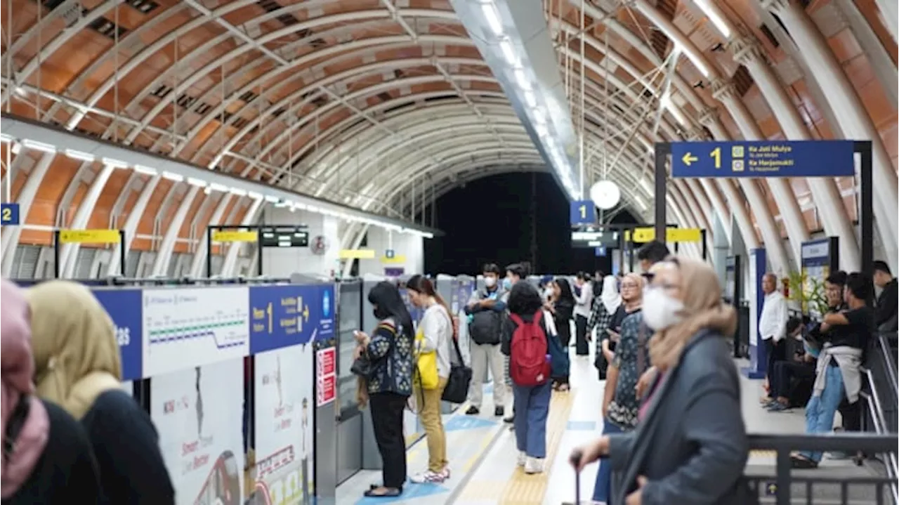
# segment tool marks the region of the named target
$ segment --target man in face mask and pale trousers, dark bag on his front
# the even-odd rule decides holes
[[[494,263],[484,265],[484,289],[472,293],[465,313],[468,315],[468,335],[471,337],[471,405],[465,412],[481,412],[484,398],[484,377],[487,370],[494,381],[494,415],[505,413],[505,368],[500,352],[500,332],[505,315],[506,289],[499,287],[500,268]]]

